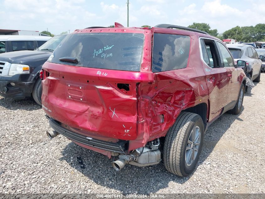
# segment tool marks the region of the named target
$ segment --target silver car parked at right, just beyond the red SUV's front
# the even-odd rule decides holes
[[[256,49],[246,44],[227,44],[235,62],[242,60],[246,62],[245,74],[253,81],[260,81],[262,61],[256,52]],[[239,66],[238,66],[239,67]]]

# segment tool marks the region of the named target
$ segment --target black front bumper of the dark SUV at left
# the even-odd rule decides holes
[[[12,86],[10,83],[14,83],[15,86]],[[0,77],[0,95],[17,99],[30,97],[34,83],[34,81],[20,82],[12,78]]]

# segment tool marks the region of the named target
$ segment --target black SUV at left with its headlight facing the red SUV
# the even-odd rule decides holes
[[[42,64],[65,36],[54,36],[34,51],[0,54],[0,95],[17,99],[33,96],[34,100],[41,104],[42,89],[39,73]]]

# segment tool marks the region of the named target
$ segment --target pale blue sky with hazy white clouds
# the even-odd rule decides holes
[[[127,26],[127,0],[0,0],[0,29],[58,35],[90,26]],[[262,10],[263,8],[263,10]],[[219,33],[265,23],[265,0],[130,0],[129,26],[207,23]]]

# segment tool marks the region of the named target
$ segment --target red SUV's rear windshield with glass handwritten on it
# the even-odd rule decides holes
[[[143,44],[142,33],[70,34],[48,61],[89,68],[140,71]],[[78,63],[59,61],[63,57],[76,58]]]

